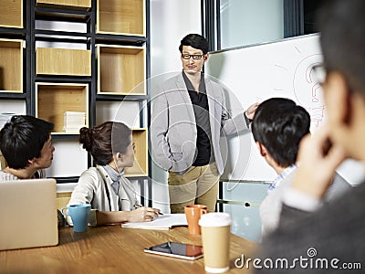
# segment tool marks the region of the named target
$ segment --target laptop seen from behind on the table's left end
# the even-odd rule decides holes
[[[58,244],[55,179],[0,182],[0,250]]]

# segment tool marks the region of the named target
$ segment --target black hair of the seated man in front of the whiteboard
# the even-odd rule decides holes
[[[252,133],[277,164],[287,167],[297,162],[299,142],[309,133],[308,111],[293,100],[271,98],[255,111]]]

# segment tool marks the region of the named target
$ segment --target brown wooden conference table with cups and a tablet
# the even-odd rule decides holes
[[[203,258],[194,261],[146,254],[143,248],[166,241],[202,244],[201,236],[189,235],[187,227],[143,230],[120,226],[89,227],[75,233],[72,227],[59,229],[56,247],[0,251],[0,273],[205,273]],[[230,265],[235,259],[254,258],[257,244],[231,235]]]

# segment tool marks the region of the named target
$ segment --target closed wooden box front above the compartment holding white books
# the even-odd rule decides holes
[[[36,48],[37,75],[91,76],[91,51],[57,47]]]

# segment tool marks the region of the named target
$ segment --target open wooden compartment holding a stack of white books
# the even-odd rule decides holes
[[[75,83],[36,83],[36,117],[53,122],[57,134],[63,132],[65,111],[83,111],[89,126],[89,85]]]

